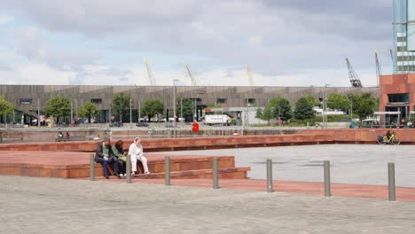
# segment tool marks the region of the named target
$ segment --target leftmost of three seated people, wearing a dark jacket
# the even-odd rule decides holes
[[[98,162],[102,164],[104,176],[109,179],[107,166],[108,163],[113,163],[114,175],[121,178],[118,170],[120,162],[114,157],[114,152],[111,148],[111,141],[109,138],[106,138],[104,141],[98,143],[96,153],[98,156]]]

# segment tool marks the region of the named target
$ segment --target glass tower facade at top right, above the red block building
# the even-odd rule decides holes
[[[415,72],[415,1],[394,0],[394,74]]]

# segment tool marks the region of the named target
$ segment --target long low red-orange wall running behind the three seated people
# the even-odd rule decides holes
[[[142,139],[142,144],[145,152],[161,152],[231,147],[266,147],[292,144],[328,144],[330,141],[331,137],[326,135],[294,134]],[[95,152],[98,142],[99,141],[0,144],[0,151]],[[123,148],[128,149],[129,144],[131,143],[131,139],[125,139]]]

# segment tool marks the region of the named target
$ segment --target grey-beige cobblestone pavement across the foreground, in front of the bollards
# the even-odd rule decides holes
[[[0,233],[415,233],[415,203],[0,176]]]

